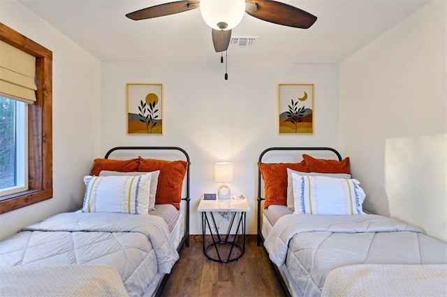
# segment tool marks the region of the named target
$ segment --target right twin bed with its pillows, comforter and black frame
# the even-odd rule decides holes
[[[303,159],[274,163],[279,151]],[[365,213],[349,158],[328,147],[272,147],[258,162],[258,245],[288,296],[447,296],[446,243]]]

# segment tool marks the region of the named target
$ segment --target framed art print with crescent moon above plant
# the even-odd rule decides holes
[[[279,84],[279,134],[314,133],[314,85]]]

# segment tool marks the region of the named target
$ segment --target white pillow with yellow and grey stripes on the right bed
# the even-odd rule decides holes
[[[365,192],[358,180],[292,173],[295,214],[360,215]]]

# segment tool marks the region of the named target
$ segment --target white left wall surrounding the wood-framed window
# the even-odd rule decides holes
[[[53,52],[53,198],[0,215],[0,239],[80,207],[82,176],[100,152],[101,62],[16,1],[0,1],[6,26]]]

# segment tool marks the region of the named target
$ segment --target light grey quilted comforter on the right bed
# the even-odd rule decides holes
[[[331,270],[355,264],[447,263],[445,242],[380,215],[285,215],[264,242],[286,265],[300,296],[321,296]]]

